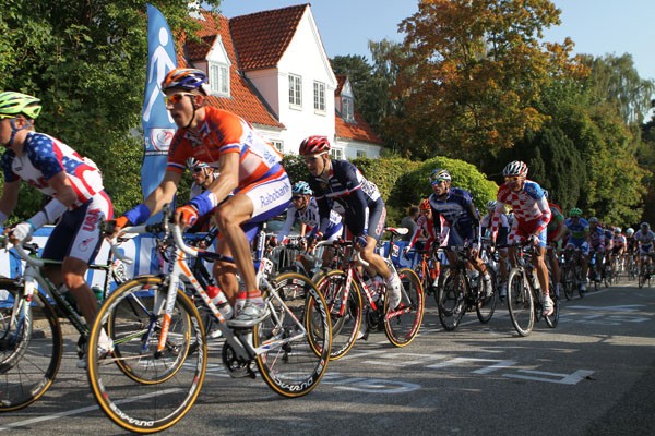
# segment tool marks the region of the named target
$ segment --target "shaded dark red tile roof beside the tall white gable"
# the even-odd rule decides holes
[[[230,19],[239,68],[250,71],[277,66],[307,8],[309,3]]]

